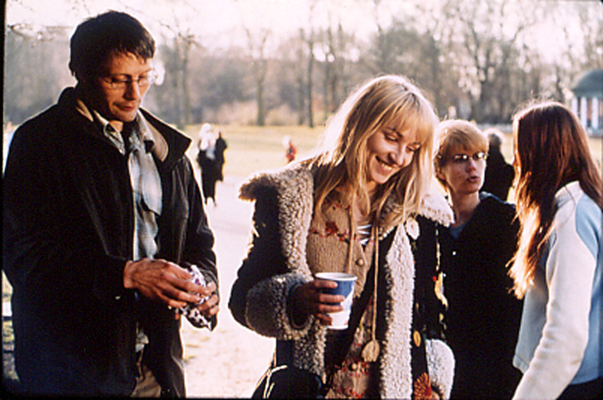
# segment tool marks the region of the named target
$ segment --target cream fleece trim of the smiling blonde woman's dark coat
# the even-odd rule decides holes
[[[263,198],[262,193],[267,191],[276,192],[277,230],[283,253],[280,260],[285,263],[286,271],[255,278],[261,280],[252,286],[235,282],[229,305],[235,318],[257,333],[277,340],[292,340],[294,366],[324,377],[326,328],[314,316],[310,316],[303,326],[294,326],[287,309],[291,290],[312,280],[306,261],[308,231],[314,211],[312,172],[307,167],[289,166],[257,173],[242,185],[240,198],[254,201]],[[453,218],[443,196],[435,193],[425,197],[420,214],[443,225],[449,225]],[[414,259],[404,225],[397,227],[386,263],[382,266],[387,281],[387,322],[379,363],[379,387],[383,398],[411,398],[412,394]],[[247,272],[247,278],[251,273],[262,275],[259,271]],[[238,281],[244,279],[239,270]],[[426,343],[426,352],[432,384],[448,397],[454,366],[452,351],[445,343],[430,340]]]

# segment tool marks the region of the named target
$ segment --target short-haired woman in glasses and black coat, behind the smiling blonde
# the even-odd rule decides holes
[[[438,229],[448,310],[446,340],[455,354],[451,398],[511,398],[521,302],[509,293],[507,263],[517,243],[515,208],[484,183],[488,140],[475,124],[447,120],[438,129],[436,178],[455,214]]]

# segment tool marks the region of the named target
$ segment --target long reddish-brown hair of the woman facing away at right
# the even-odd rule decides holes
[[[534,103],[513,118],[516,198],[521,222],[519,249],[510,275],[519,298],[534,280],[555,217],[555,194],[572,181],[603,209],[601,171],[586,132],[569,108]]]

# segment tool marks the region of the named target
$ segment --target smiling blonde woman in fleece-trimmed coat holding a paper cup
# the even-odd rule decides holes
[[[276,338],[274,366],[291,372],[259,395],[449,395],[452,353],[421,336],[428,317],[413,298],[424,271],[415,271],[412,221],[452,220],[444,199],[428,194],[437,123],[406,78],[374,78],[330,120],[317,155],[242,186],[241,198],[256,202],[254,237],[229,306],[242,325]],[[315,280],[318,272],[356,275],[347,330],[327,330],[343,296],[322,293],[335,283]]]

